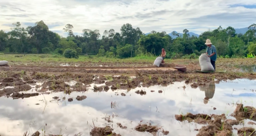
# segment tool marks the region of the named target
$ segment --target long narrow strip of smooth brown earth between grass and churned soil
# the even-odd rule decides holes
[[[157,74],[165,72],[175,72],[177,69],[174,68],[157,68],[155,66],[149,67],[134,67],[138,71],[147,74]],[[80,73],[120,73],[130,74],[136,71],[132,67],[73,67],[73,66],[11,66],[11,67],[0,67],[3,71],[32,71],[32,72],[80,72]]]

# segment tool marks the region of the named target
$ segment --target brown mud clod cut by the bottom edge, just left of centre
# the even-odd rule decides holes
[[[112,132],[114,129],[110,126],[106,127],[95,127],[91,130],[90,136],[121,136],[120,134],[116,134]]]

